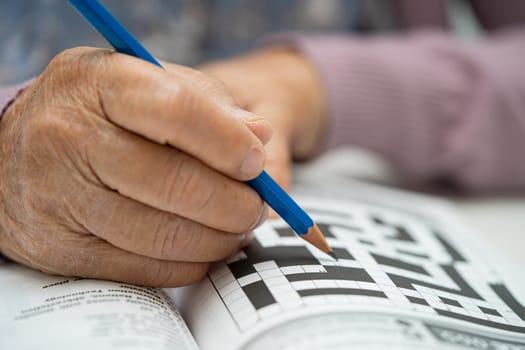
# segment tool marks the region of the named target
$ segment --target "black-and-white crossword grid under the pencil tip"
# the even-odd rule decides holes
[[[497,276],[473,269],[433,223],[357,204],[346,210],[307,210],[337,261],[277,222],[258,230],[244,252],[210,270],[240,329],[290,309],[354,304],[525,333],[524,307]],[[468,279],[460,271],[467,271]]]

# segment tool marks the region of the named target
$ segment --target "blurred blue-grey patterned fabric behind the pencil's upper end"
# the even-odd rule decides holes
[[[195,65],[253,48],[278,31],[392,29],[389,1],[102,0],[158,58]],[[374,15],[375,14],[375,15]],[[108,47],[65,0],[0,2],[0,85],[37,75],[58,52]]]

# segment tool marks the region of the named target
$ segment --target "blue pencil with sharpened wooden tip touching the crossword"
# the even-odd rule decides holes
[[[109,41],[115,50],[163,68],[159,61],[100,2],[97,0],[69,0],[69,2]],[[333,256],[332,249],[317,225],[266,171],[247,183],[292,227],[299,237]]]

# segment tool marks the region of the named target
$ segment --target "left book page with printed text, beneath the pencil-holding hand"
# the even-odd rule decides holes
[[[162,291],[49,276],[0,258],[0,349],[197,346]]]

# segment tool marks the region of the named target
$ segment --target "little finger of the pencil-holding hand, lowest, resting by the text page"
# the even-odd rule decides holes
[[[177,287],[202,279],[207,263],[154,259],[116,248],[92,235],[64,234],[56,242],[55,259],[36,266],[44,272],[133,283]]]

